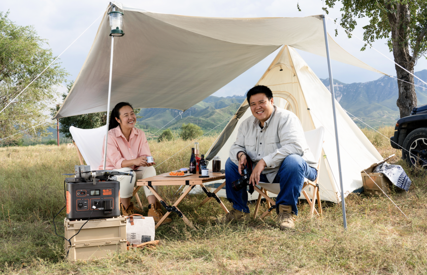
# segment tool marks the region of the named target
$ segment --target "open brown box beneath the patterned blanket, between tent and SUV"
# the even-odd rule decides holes
[[[360,174],[362,175],[363,189],[365,194],[381,195],[384,193],[390,193],[390,187],[393,185],[391,181],[383,174],[372,173],[372,171],[374,171],[375,167],[391,159],[393,156],[395,155],[392,154],[388,158],[371,165],[369,168],[365,169],[366,173],[364,171],[360,172]],[[381,191],[380,188],[382,189],[382,191],[384,191],[384,193]]]

